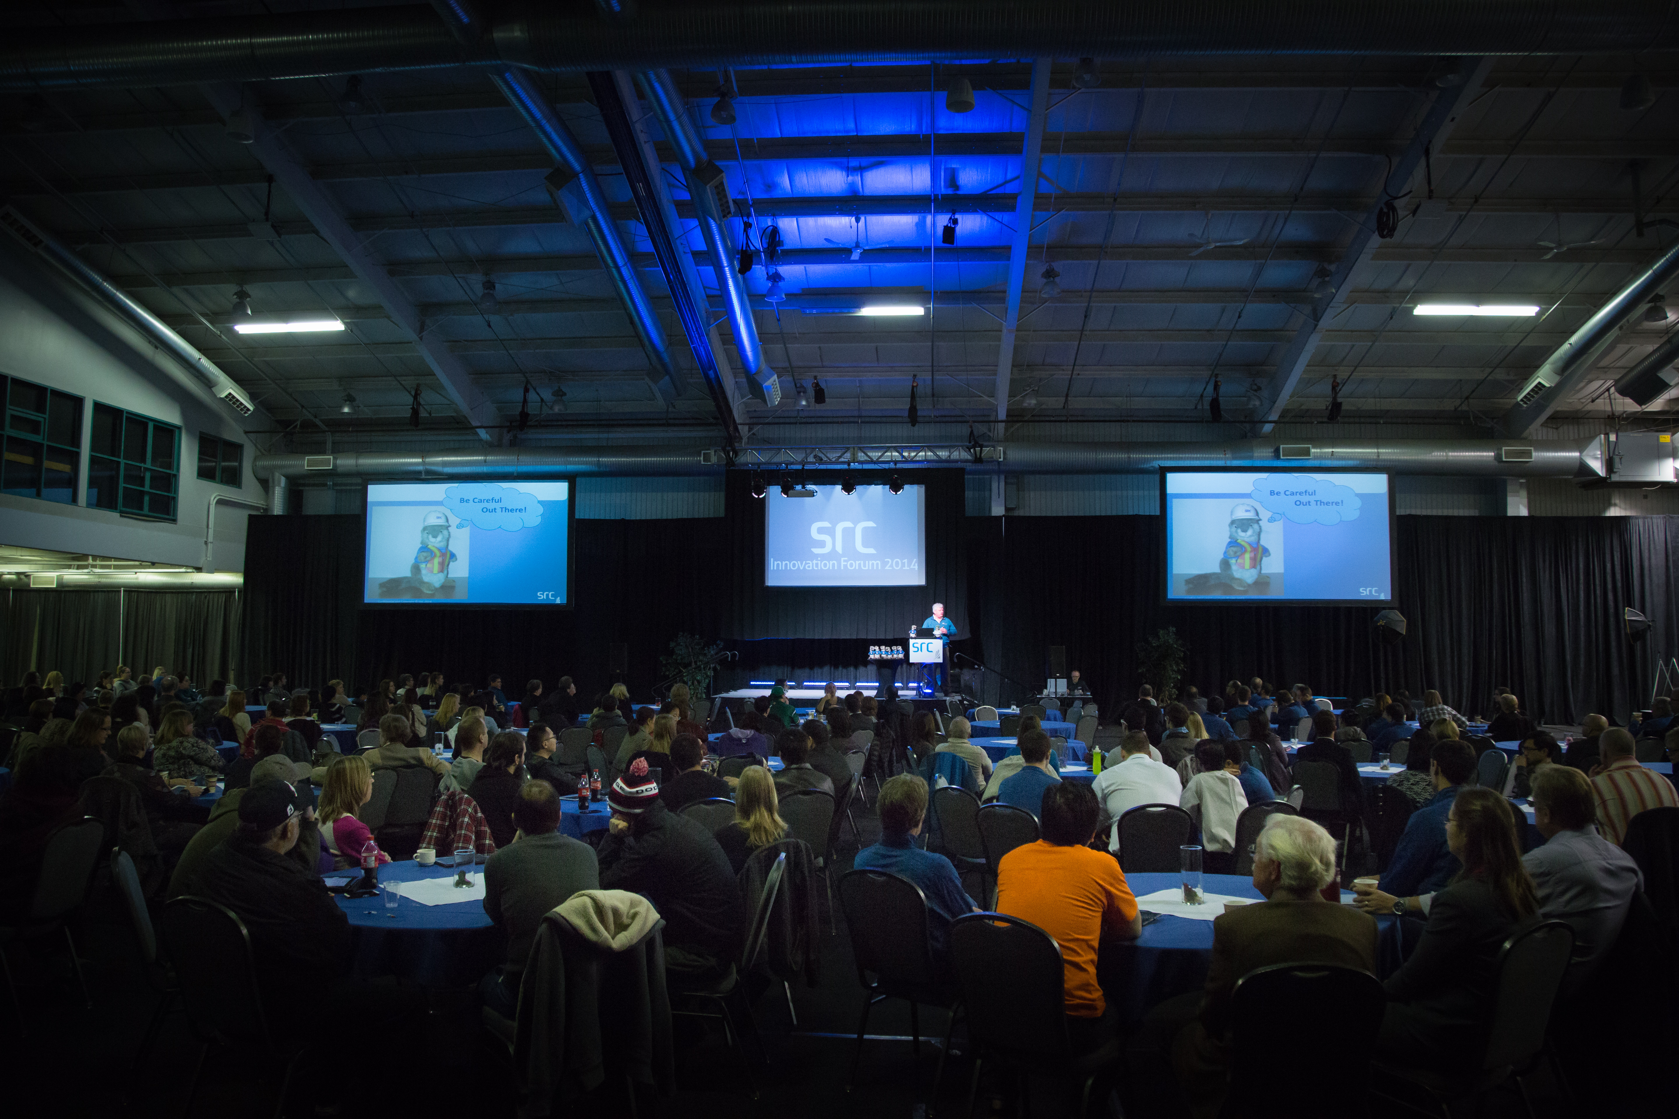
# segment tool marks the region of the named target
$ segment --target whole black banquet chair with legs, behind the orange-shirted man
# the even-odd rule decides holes
[[[1096,1080],[1120,1059],[1118,1037],[1090,1054],[1073,1054],[1066,1030],[1066,973],[1061,946],[1036,924],[1001,913],[969,913],[950,924],[950,970],[955,975],[967,1037],[974,1047],[974,1072],[967,1089],[972,1114],[979,1074],[994,1062],[1021,1077],[1028,1097],[1029,1075],[1071,1079],[1081,1085],[1078,1111],[1085,1116]]]

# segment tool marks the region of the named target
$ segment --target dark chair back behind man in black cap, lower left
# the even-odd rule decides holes
[[[158,918],[163,955],[181,980],[181,1003],[200,1042],[272,1049],[269,1020],[252,965],[250,929],[238,914],[207,898],[186,894]],[[215,961],[215,978],[203,978]]]

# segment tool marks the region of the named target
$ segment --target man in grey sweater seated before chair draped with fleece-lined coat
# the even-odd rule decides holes
[[[583,889],[599,889],[594,849],[559,834],[559,794],[526,782],[514,802],[517,839],[484,864],[484,913],[507,936],[507,961],[484,976],[484,1005],[512,1018],[536,931],[551,909]]]

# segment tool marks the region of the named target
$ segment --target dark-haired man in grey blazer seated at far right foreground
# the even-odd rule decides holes
[[[1632,896],[1644,887],[1639,864],[1597,834],[1592,782],[1567,765],[1533,770],[1533,827],[1545,844],[1521,857],[1533,877],[1540,916],[1567,921],[1575,931],[1573,961],[1565,990],[1592,978],[1603,955],[1620,938]]]

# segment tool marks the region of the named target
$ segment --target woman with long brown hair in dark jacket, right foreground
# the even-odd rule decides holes
[[[1449,743],[1436,747],[1436,765]],[[1504,939],[1538,913],[1521,864],[1509,804],[1491,789],[1464,789],[1451,804],[1446,837],[1462,872],[1434,894],[1410,958],[1389,976],[1378,1054],[1412,1067],[1467,1072],[1486,1050]]]

